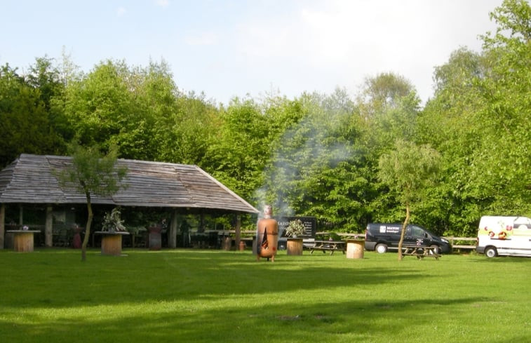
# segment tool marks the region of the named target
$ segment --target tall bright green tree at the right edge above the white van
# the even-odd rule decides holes
[[[490,17],[495,34],[483,36],[491,67],[479,83],[486,106],[481,152],[473,177],[485,180],[490,213],[531,213],[531,6],[504,0]],[[509,167],[510,166],[510,167]]]

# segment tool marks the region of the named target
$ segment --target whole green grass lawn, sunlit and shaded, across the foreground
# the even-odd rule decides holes
[[[530,342],[531,259],[0,250],[0,342]]]

